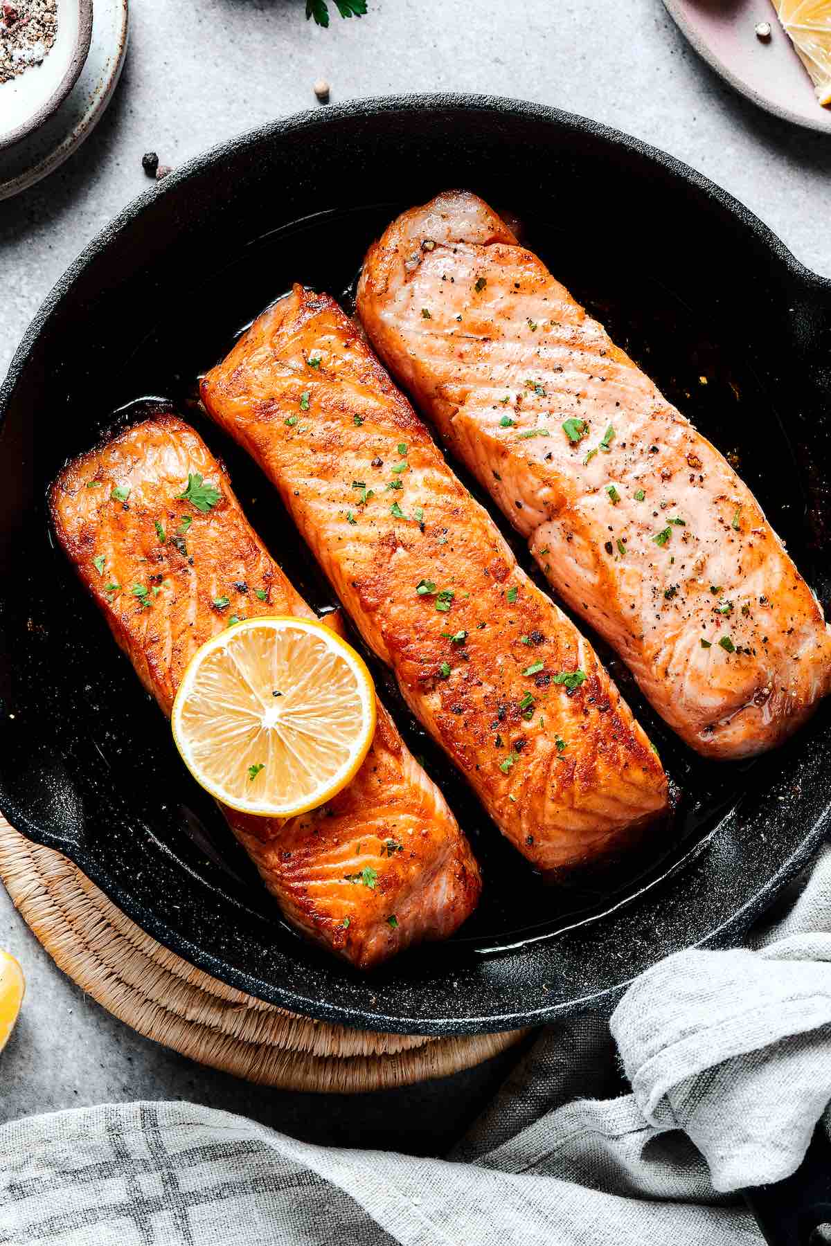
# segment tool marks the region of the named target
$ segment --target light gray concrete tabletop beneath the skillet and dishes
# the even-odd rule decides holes
[[[333,5],[334,7],[334,5]],[[0,203],[0,375],[67,263],[133,194],[141,155],[177,164],[270,117],[401,91],[485,91],[584,113],[720,182],[805,264],[831,275],[831,142],[735,96],[686,46],[660,0],[370,0],[329,31],[302,0],[132,0],[110,112],[59,173]],[[679,239],[683,244],[683,239]],[[440,1151],[511,1058],[444,1083],[354,1099],[263,1091],[138,1038],[51,963],[0,890],[0,946],[29,978],[0,1058],[0,1119],[105,1100],[184,1098],[298,1136]]]

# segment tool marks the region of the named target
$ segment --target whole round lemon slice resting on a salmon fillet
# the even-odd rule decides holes
[[[193,655],[172,726],[212,796],[290,817],[354,776],[375,734],[375,689],[361,658],[323,623],[245,619]]]

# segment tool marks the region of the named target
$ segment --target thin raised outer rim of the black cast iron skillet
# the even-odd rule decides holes
[[[802,288],[814,288],[831,293],[831,280],[817,277],[810,269],[800,264],[787,250],[784,243],[765,226],[757,217],[749,212],[743,204],[735,201],[725,191],[715,186],[695,169],[675,159],[674,157],[653,148],[639,140],[630,138],[619,131],[612,130],[592,120],[563,112],[544,105],[531,103],[521,100],[510,100],[496,96],[482,95],[409,95],[386,96],[346,102],[326,108],[325,111],[305,111],[292,117],[270,122],[254,131],[249,131],[224,143],[219,143],[208,152],[196,157],[179,169],[169,174],[159,187],[151,188],[128,203],[81,252],[81,254],[67,268],[64,275],[55,284],[50,294],[41,304],[39,312],[29,325],[20,346],[17,348],[9,373],[0,385],[0,421],[5,417],[6,407],[11,400],[17,380],[20,379],[30,353],[40,334],[47,324],[50,316],[60,308],[62,302],[71,297],[74,285],[87,265],[100,257],[108,245],[135,222],[146,208],[150,208],[159,197],[173,192],[192,176],[204,172],[217,162],[224,159],[229,152],[242,147],[254,147],[262,142],[279,140],[283,135],[294,133],[303,130],[314,130],[328,126],[333,121],[371,121],[373,117],[395,112],[421,112],[436,110],[441,112],[456,111],[463,113],[495,113],[505,117],[528,117],[528,120],[542,121],[557,127],[559,132],[571,131],[586,133],[593,138],[615,147],[623,152],[629,152],[635,157],[645,158],[657,166],[663,167],[674,179],[685,182],[691,188],[703,192],[710,201],[714,201],[723,213],[733,217],[739,224],[750,231],[757,243],[771,254],[790,274],[790,277]],[[471,1015],[467,1011],[463,1015],[397,1015],[387,1014],[384,1011],[374,1011],[364,1004],[363,1007],[345,1007],[333,1004],[328,1001],[314,999],[295,994],[285,987],[264,982],[252,974],[227,964],[213,956],[209,951],[194,946],[186,934],[172,930],[156,915],[145,910],[131,900],[131,895],[121,887],[106,870],[101,868],[93,854],[88,854],[83,845],[72,845],[60,841],[51,832],[44,832],[40,827],[24,825],[27,819],[15,817],[15,809],[5,794],[0,794],[2,811],[12,825],[27,835],[34,842],[41,842],[55,847],[69,856],[92,881],[132,920],[135,920],[147,933],[157,938],[164,947],[177,952],[186,961],[203,968],[206,972],[221,978],[229,986],[237,987],[259,998],[282,1004],[295,1012],[318,1017],[324,1020],[338,1022],[345,1025],[368,1027],[384,1029],[392,1033],[420,1033],[420,1034],[451,1034],[451,1033],[488,1033],[505,1029],[513,1029],[523,1025],[539,1024],[556,1017],[593,1007],[609,1008],[620,996],[628,981],[622,981],[612,987],[601,991],[589,991],[577,998],[559,1001],[536,1008],[512,1009],[511,1012],[493,1013],[490,1015]],[[814,820],[812,826],[806,832],[799,847],[780,863],[779,868],[770,875],[767,881],[734,910],[724,921],[716,925],[696,946],[724,944],[739,936],[754,917],[759,916],[770,903],[772,897],[791,880],[809,861],[814,851],[822,841],[831,810],[826,809]],[[709,841],[705,841],[709,842]],[[701,845],[704,847],[704,845]],[[688,868],[688,863],[684,868]],[[664,880],[668,883],[670,880]],[[635,897],[637,898],[637,897]],[[568,932],[561,932],[559,937]],[[487,994],[487,986],[483,987]]]

